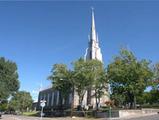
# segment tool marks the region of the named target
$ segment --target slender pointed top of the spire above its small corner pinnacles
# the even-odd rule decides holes
[[[96,29],[95,29],[95,20],[94,20],[94,8],[92,8],[92,26],[91,26],[91,40],[96,40]]]

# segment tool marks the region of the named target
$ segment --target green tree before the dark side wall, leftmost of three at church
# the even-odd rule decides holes
[[[72,71],[68,70],[65,64],[55,64],[48,77],[52,81],[53,89],[60,91],[60,104],[66,100],[72,91]]]

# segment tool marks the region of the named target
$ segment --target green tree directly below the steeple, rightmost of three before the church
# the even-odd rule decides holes
[[[108,91],[108,81],[106,70],[104,69],[103,63],[98,60],[89,60],[88,62],[90,66],[90,79],[93,80],[92,90],[94,90],[94,95],[96,100],[96,109],[98,110],[100,99],[103,95],[107,95]]]

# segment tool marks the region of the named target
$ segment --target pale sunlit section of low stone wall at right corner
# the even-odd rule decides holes
[[[157,114],[159,109],[119,110],[119,117],[139,116],[143,114]]]

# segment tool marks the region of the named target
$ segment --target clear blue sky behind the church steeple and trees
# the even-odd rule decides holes
[[[35,99],[53,64],[85,54],[91,6],[105,65],[121,46],[159,61],[159,2],[0,2],[0,56],[17,63],[20,90]]]

